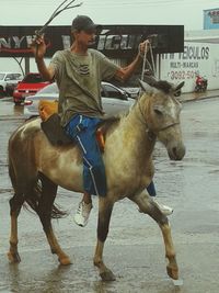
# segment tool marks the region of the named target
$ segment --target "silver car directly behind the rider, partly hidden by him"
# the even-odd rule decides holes
[[[39,100],[55,101],[58,100],[58,87],[54,82],[38,91],[35,95],[26,97],[24,100],[25,119],[38,115]],[[102,82],[101,95],[103,110],[110,115],[126,112],[135,103],[135,100],[130,98],[128,92],[108,82]]]

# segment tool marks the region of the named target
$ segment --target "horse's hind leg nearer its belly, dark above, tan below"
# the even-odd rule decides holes
[[[50,246],[51,253],[56,253],[58,256],[60,264],[67,266],[70,264],[71,261],[60,248],[51,226],[51,210],[57,193],[57,185],[43,174],[41,174],[41,181],[42,198],[38,204],[37,213]]]

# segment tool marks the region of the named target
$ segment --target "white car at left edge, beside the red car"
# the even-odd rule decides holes
[[[0,72],[0,95],[11,95],[18,82],[22,79],[22,74]]]

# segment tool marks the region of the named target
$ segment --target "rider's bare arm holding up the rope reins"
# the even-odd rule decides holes
[[[145,50],[148,52],[149,48],[149,41],[145,41],[143,43],[140,43],[139,45],[139,52],[136,58],[131,64],[129,64],[127,67],[122,67],[116,71],[115,77],[120,81],[126,81],[135,71],[136,69],[141,65],[142,63],[142,56],[145,54]]]

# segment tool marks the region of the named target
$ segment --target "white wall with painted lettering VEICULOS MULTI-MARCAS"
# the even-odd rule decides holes
[[[193,92],[195,74],[208,79],[208,89],[219,89],[219,44],[185,42],[184,53],[163,54],[160,78],[170,82],[185,81],[183,92]]]

